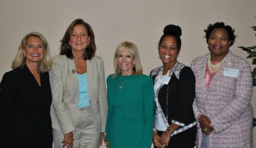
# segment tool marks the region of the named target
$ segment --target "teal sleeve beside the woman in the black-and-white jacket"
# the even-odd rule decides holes
[[[152,137],[153,137],[153,123],[154,123],[154,104],[155,104],[155,94],[153,90],[153,80],[151,77],[143,84],[143,101],[144,101],[144,137],[141,142],[141,148],[151,147]]]

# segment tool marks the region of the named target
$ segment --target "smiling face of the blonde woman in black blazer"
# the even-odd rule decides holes
[[[26,56],[26,65],[31,63],[40,63],[46,54],[44,44],[39,37],[29,36],[26,39],[25,47],[21,49]]]

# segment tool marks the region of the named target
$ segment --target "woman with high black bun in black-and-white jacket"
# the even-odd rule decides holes
[[[150,74],[155,89],[155,147],[195,146],[195,76],[190,67],[177,61],[181,35],[179,26],[170,24],[164,28],[158,48],[163,65]]]

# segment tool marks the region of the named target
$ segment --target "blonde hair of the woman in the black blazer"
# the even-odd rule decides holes
[[[24,67],[26,58],[23,56],[23,52],[22,52],[21,49],[25,48],[27,39],[30,36],[34,36],[34,37],[40,38],[42,43],[43,43],[43,45],[44,45],[45,52],[46,52],[45,57],[40,62],[38,70],[40,72],[49,71],[50,68],[52,67],[52,57],[50,56],[50,49],[49,49],[47,40],[44,38],[44,36],[42,36],[38,32],[31,32],[31,33],[29,33],[29,34],[24,36],[24,38],[21,40],[21,44],[19,44],[18,52],[17,52],[17,55],[15,56],[15,58],[13,60],[13,64],[11,65],[11,68],[15,69],[17,67],[19,67],[19,68],[23,68]]]

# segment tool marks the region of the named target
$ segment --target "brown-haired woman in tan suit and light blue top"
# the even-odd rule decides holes
[[[99,147],[105,139],[104,64],[95,52],[92,28],[82,19],[74,20],[50,70],[54,147]]]

